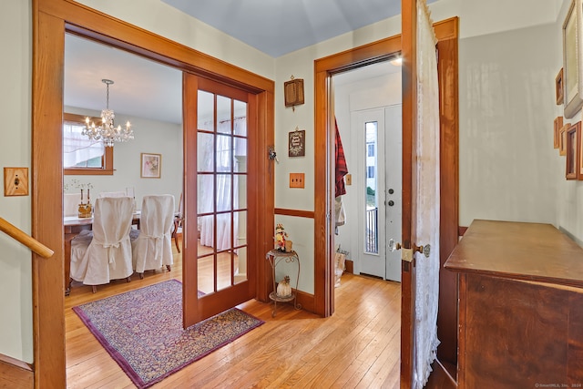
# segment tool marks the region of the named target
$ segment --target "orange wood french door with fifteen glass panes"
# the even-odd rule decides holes
[[[254,298],[253,96],[185,74],[184,325]]]

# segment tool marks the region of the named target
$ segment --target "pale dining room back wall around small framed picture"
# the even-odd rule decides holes
[[[66,107],[66,112],[83,116],[99,117],[99,113],[75,107]],[[133,187],[136,205],[141,209],[142,198],[146,195],[171,194],[174,196],[175,209],[179,210],[180,193],[182,191],[182,125],[165,123],[144,118],[129,118],[116,112],[116,123],[131,122],[134,130],[134,140],[116,143],[114,146],[113,176],[64,176],[64,184],[68,184],[66,193],[77,193],[71,188],[71,180],[80,183],[91,183],[91,202],[99,192],[125,191]],[[143,179],[140,177],[140,154],[154,153],[162,155],[161,174],[159,179]]]

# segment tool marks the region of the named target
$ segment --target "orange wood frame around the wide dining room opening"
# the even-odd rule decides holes
[[[261,159],[261,193],[265,210],[255,230],[258,247],[272,245],[274,183],[267,179],[267,145],[273,144],[275,127],[274,82],[224,61],[172,42],[71,0],[33,0],[32,93],[32,236],[55,251],[42,260],[33,255],[33,348],[35,387],[66,387],[63,280],[62,116],[65,33],[107,43],[179,70],[240,87],[257,98]],[[260,154],[260,153],[258,153]],[[186,171],[185,171],[186,172]],[[188,228],[188,226],[187,226]],[[267,301],[270,280],[257,263],[257,293]]]

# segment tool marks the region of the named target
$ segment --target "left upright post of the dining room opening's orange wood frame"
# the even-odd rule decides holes
[[[36,2],[37,4],[37,2]],[[35,387],[66,387],[63,279],[63,69],[65,23],[34,15],[32,102],[32,233],[57,261],[33,255]],[[55,201],[57,199],[57,201]]]

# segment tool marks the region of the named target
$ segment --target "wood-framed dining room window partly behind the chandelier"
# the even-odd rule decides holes
[[[89,118],[98,123],[100,118]],[[63,173],[66,175],[113,175],[113,148],[81,135],[85,117],[63,114]]]

